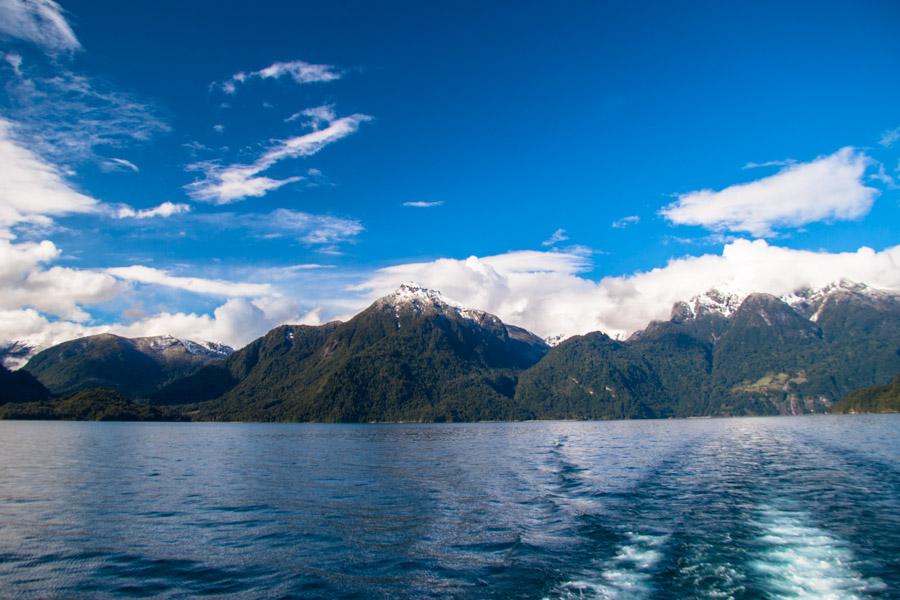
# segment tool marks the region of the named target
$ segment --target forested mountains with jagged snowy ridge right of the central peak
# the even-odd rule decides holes
[[[823,412],[900,372],[900,300],[841,282],[785,298],[711,291],[625,343],[567,340],[520,377],[539,418]]]

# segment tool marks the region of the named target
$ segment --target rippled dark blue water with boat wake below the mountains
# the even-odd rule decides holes
[[[900,416],[0,423],[0,596],[897,598]]]

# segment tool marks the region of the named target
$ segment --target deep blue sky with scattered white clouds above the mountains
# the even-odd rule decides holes
[[[0,58],[0,345],[900,291],[896,2],[0,0]]]

